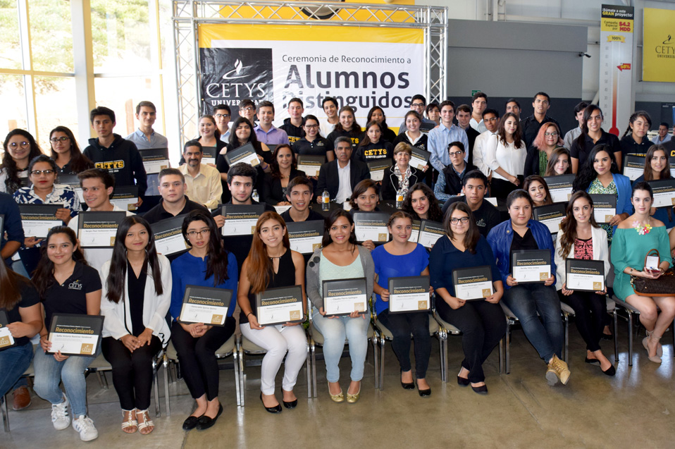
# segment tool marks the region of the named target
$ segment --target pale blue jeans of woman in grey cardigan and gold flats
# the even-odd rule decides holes
[[[349,357],[352,358],[352,381],[360,381],[364,378],[364,365],[368,352],[368,325],[369,319],[349,318],[338,316],[327,318],[312,308],[312,320],[314,327],[323,336],[323,359],[326,361],[326,379],[329,382],[340,380],[340,362],[342,350],[345,349],[345,338],[349,340]]]

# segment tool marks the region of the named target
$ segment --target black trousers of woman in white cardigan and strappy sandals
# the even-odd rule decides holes
[[[112,337],[101,341],[103,357],[113,367],[113,385],[120,398],[122,410],[147,410],[152,390],[152,358],[161,350],[162,342],[152,336],[149,345],[131,352]]]

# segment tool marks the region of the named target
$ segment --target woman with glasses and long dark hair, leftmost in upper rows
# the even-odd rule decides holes
[[[42,154],[35,138],[25,130],[11,130],[3,142],[0,192],[13,194],[27,183],[28,164]]]

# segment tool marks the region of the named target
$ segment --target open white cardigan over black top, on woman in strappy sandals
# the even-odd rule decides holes
[[[163,293],[157,295],[155,293],[154,281],[152,280],[153,273],[148,272],[147,282],[145,283],[145,294],[143,302],[143,324],[147,328],[152,329],[152,335],[161,338],[163,345],[168,343],[171,337],[171,329],[166,324],[166,314],[169,306],[171,306],[171,263],[166,256],[158,254],[159,269],[161,271],[161,281]],[[124,279],[124,301],[117,304],[109,301],[106,295],[108,288],[106,280],[110,271],[110,261],[106,262],[101,268],[101,284],[103,284],[103,292],[101,292],[101,314],[106,317],[103,322],[104,337],[113,337],[119,340],[127,335],[131,329],[131,314],[129,305],[128,278],[129,273]]]

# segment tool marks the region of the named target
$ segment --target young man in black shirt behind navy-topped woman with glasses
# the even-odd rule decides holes
[[[490,202],[483,200],[485,197],[485,186],[488,185],[488,178],[480,170],[473,170],[466,173],[462,180],[463,197],[451,197],[443,204],[443,215],[450,207],[450,204],[461,201],[469,204],[469,209],[476,219],[478,231],[487,238],[490,229],[500,223],[500,212]]]

